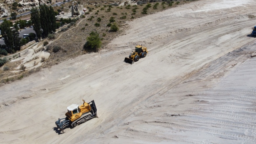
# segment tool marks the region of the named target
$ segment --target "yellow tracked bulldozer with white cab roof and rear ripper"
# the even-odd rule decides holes
[[[89,103],[86,103],[84,100],[83,102],[84,103],[80,106],[73,104],[67,107],[68,112],[65,114],[66,118],[59,118],[57,121],[55,121],[55,124],[62,131],[62,133],[64,133],[64,128],[66,126],[70,125],[74,128],[82,122],[88,121],[94,117],[98,117],[94,100]]]

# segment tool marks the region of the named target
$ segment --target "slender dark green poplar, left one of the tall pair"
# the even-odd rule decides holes
[[[33,30],[35,31],[37,37],[41,39],[41,35],[42,35],[41,21],[40,21],[40,13],[37,7],[31,9],[31,21],[33,24]]]

